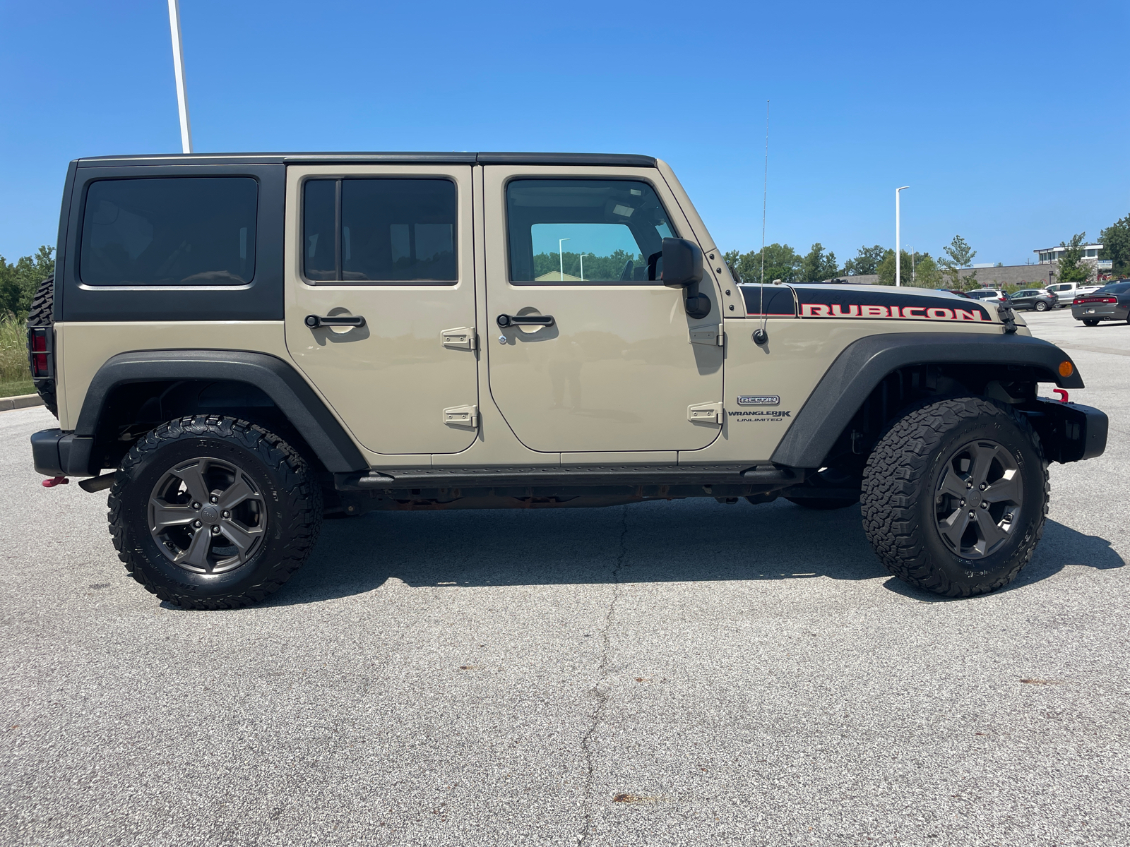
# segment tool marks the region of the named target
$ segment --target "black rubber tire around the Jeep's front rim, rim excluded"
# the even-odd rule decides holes
[[[962,558],[941,539],[935,491],[941,469],[960,445],[977,438],[1005,447],[1023,479],[1024,503],[1010,536],[996,551]],[[876,445],[863,471],[863,530],[883,565],[919,588],[950,597],[996,591],[1032,559],[1044,531],[1050,491],[1040,438],[1027,419],[986,398],[955,398],[897,421]]]

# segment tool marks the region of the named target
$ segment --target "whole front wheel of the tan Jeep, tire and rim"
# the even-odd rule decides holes
[[[1048,515],[1048,466],[1027,419],[958,398],[911,412],[863,472],[863,529],[898,578],[946,596],[1010,583]]]

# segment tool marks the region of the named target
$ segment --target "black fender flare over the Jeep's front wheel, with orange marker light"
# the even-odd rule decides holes
[[[863,401],[890,373],[911,365],[1026,365],[1041,382],[1081,388],[1071,361],[1070,376],[1060,364],[1071,357],[1055,344],[1031,335],[973,332],[892,332],[868,335],[845,347],[812,390],[773,452],[775,464],[819,468]]]

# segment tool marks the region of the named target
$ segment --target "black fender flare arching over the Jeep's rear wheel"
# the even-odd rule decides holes
[[[94,438],[115,387],[156,379],[225,379],[254,385],[287,417],[328,471],[368,468],[353,438],[294,367],[277,356],[243,350],[149,350],[111,357],[90,381],[75,437]]]

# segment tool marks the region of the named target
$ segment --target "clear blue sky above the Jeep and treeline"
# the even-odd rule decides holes
[[[1130,213],[1122,2],[182,0],[198,151],[668,160],[723,248],[977,262]],[[164,0],[0,1],[0,254],[54,242],[67,161],[179,151]]]

